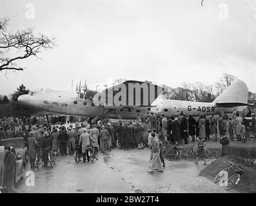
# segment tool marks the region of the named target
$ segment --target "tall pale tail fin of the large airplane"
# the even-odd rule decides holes
[[[224,107],[249,106],[248,88],[244,82],[236,80],[213,103]]]

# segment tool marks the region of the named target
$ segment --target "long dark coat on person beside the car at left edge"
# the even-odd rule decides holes
[[[12,151],[5,154],[5,169],[3,172],[3,187],[14,187],[16,156]]]

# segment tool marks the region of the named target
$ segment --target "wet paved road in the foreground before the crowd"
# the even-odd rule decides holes
[[[148,174],[148,149],[114,149],[99,154],[92,163],[75,163],[74,157],[58,156],[54,169],[34,169],[35,186],[17,185],[19,192],[227,192],[198,176],[204,167],[188,160],[166,160],[164,173]],[[209,160],[210,161],[210,160]],[[210,162],[208,162],[210,163]],[[233,192],[233,191],[232,191]]]

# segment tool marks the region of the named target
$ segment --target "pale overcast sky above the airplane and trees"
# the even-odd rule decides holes
[[[26,18],[28,3],[34,19]],[[10,17],[9,31],[35,27],[58,44],[42,61],[19,62],[25,71],[0,73],[0,94],[20,84],[70,90],[72,79],[74,88],[80,79],[214,84],[222,73],[256,92],[253,0],[0,0],[0,14]]]

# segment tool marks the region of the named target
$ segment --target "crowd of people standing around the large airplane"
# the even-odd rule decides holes
[[[47,149],[49,147],[55,155],[63,156],[73,154],[80,146],[83,162],[86,162],[86,160],[90,162],[89,146],[94,147],[96,151],[100,150],[102,153],[112,151],[117,147],[124,150],[149,147],[151,153],[148,173],[153,173],[155,169],[157,169],[157,172],[162,172],[162,167],[165,167],[162,154],[164,148],[161,141],[180,145],[188,144],[189,140],[192,142],[198,140],[198,157],[203,158],[204,165],[206,165],[205,141],[210,140],[210,138],[217,141],[217,138],[219,138],[222,144],[221,156],[224,156],[230,141],[233,141],[234,137],[237,138],[237,141],[242,142],[250,140],[250,123],[246,117],[252,117],[251,127],[256,127],[255,113],[252,113],[251,109],[248,109],[248,111],[244,109],[242,113],[234,109],[230,118],[222,110],[219,117],[211,115],[208,118],[201,114],[197,120],[191,114],[183,113],[183,111],[176,113],[171,118],[166,118],[164,114],[157,115],[148,112],[147,115],[137,115],[136,120],[126,122],[120,120],[119,124],[113,124],[108,118],[104,118],[104,120],[99,120],[94,125],[83,121],[81,124],[75,122],[75,126],[70,124],[68,127],[64,126],[67,123],[66,118],[55,117],[54,123],[60,123],[60,126],[53,124],[53,118],[51,117],[49,120],[46,115],[37,119],[36,122],[32,122],[32,124],[30,122],[24,123],[23,120],[16,122],[15,120],[19,120],[19,118],[1,118],[0,140],[14,137],[25,138],[31,168],[35,167],[35,157],[39,149],[42,151],[43,167],[48,166]],[[21,127],[15,131],[15,126]],[[8,145],[6,145],[5,151],[6,156],[11,154]],[[195,162],[196,164],[198,160]]]

